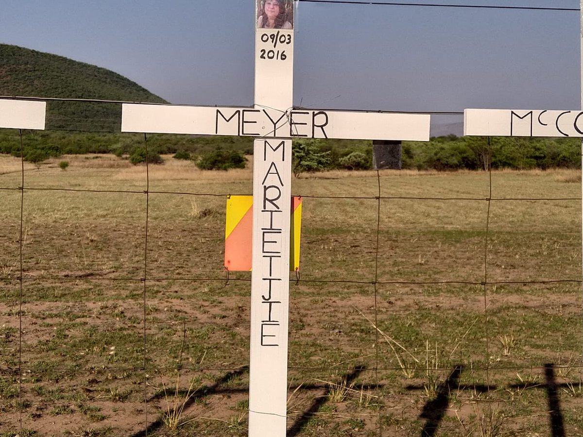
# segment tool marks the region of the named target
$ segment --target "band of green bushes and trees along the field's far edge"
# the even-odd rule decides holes
[[[143,135],[69,131],[23,132],[24,160],[41,162],[63,154],[113,153],[134,164],[146,159],[161,163],[161,154],[177,154],[201,168],[241,167],[241,157],[253,153],[253,139],[233,136]],[[18,131],[0,130],[0,153],[20,157]],[[365,140],[294,140],[294,173],[373,168],[373,147]],[[225,162],[227,162],[225,164]],[[213,164],[216,163],[216,164]],[[457,137],[429,142],[403,142],[402,168],[417,170],[484,170],[487,168],[580,168],[581,140],[577,138]]]

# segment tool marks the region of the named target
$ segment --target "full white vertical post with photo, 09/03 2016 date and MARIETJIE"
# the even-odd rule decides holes
[[[291,138],[270,131],[286,124],[292,109],[294,33],[293,26],[269,29],[260,21],[276,7],[291,24],[287,3],[258,0],[255,17],[255,110],[275,117],[272,129],[259,132],[270,138],[255,139],[253,147],[250,437],[286,435]]]

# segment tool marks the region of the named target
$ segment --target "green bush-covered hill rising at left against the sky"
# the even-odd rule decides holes
[[[108,69],[8,44],[0,44],[0,96],[167,103]],[[116,132],[120,123],[120,104],[47,103],[47,129]]]

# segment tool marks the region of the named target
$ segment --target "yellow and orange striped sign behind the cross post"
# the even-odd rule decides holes
[[[251,270],[253,196],[229,196],[224,229],[224,266],[233,271]],[[291,198],[290,271],[300,269],[301,197]]]

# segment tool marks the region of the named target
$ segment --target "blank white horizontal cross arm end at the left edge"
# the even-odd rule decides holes
[[[0,100],[0,128],[44,130],[47,103]]]

